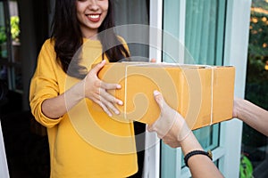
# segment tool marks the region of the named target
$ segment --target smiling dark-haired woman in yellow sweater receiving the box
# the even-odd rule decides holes
[[[52,36],[38,55],[29,91],[32,114],[47,128],[50,176],[113,178],[135,174],[133,123],[113,120],[122,101],[107,92],[121,85],[97,77],[105,62],[130,56],[123,38],[107,30],[114,26],[113,4],[109,0],[56,0],[54,10]]]

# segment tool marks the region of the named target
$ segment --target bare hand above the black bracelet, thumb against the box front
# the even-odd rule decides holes
[[[187,138],[191,130],[185,119],[164,101],[162,93],[155,91],[154,96],[161,115],[155,123],[147,126],[147,130],[156,132],[157,136],[172,148],[180,147],[180,142]]]

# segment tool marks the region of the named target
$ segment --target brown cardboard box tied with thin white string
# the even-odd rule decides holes
[[[185,117],[194,130],[232,117],[234,67],[172,65],[168,63],[108,63],[98,73],[106,83],[121,84],[110,91],[124,101],[115,119],[152,124],[160,116],[153,92]]]

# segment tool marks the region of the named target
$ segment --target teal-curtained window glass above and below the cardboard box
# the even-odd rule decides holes
[[[226,1],[186,2],[185,46],[196,64],[223,64],[225,9]],[[213,125],[194,131],[205,150],[219,146],[219,128]]]

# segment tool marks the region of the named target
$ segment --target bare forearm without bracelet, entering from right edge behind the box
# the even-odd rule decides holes
[[[268,111],[254,103],[236,98],[233,106],[233,117],[237,117],[258,132],[268,136]]]

